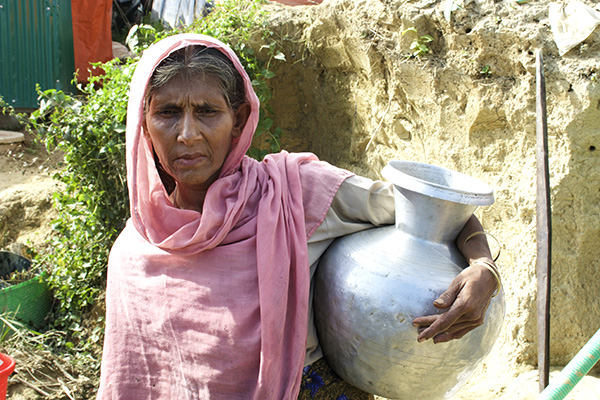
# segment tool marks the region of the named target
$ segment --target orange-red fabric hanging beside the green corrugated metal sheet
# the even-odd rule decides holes
[[[87,82],[92,67],[90,63],[106,62],[112,54],[112,0],[71,1],[73,19],[73,49],[77,80]],[[92,70],[100,75],[100,69]]]

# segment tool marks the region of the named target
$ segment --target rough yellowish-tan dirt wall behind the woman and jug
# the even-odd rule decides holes
[[[284,147],[379,178],[390,159],[495,188],[476,213],[501,244],[507,315],[495,368],[535,365],[535,54],[547,83],[553,219],[551,363],[600,327],[600,32],[560,56],[548,1],[325,0],[272,7],[286,62],[272,79]],[[595,6],[591,1],[586,2]],[[403,32],[409,28],[414,31]],[[428,54],[411,43],[430,35]],[[256,43],[260,46],[260,42]],[[492,241],[493,244],[493,241]]]

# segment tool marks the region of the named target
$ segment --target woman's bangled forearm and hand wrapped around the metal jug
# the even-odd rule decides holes
[[[489,269],[496,266],[485,235],[473,235],[482,231],[481,223],[472,216],[458,235],[456,244],[469,267],[433,302],[435,307],[445,309],[444,313],[413,320],[413,326],[418,328],[419,342],[432,338],[434,343],[459,339],[483,324],[485,312],[492,296],[500,289],[500,282]]]

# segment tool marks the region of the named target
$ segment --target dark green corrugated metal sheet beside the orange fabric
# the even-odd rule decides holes
[[[74,90],[70,0],[0,0],[0,96],[37,108],[35,90]]]

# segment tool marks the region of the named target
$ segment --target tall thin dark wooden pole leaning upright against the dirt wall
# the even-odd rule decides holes
[[[546,119],[546,82],[542,51],[536,55],[536,139],[537,139],[537,328],[540,392],[550,380],[550,288],[552,222],[550,173],[548,167],[548,124]]]

